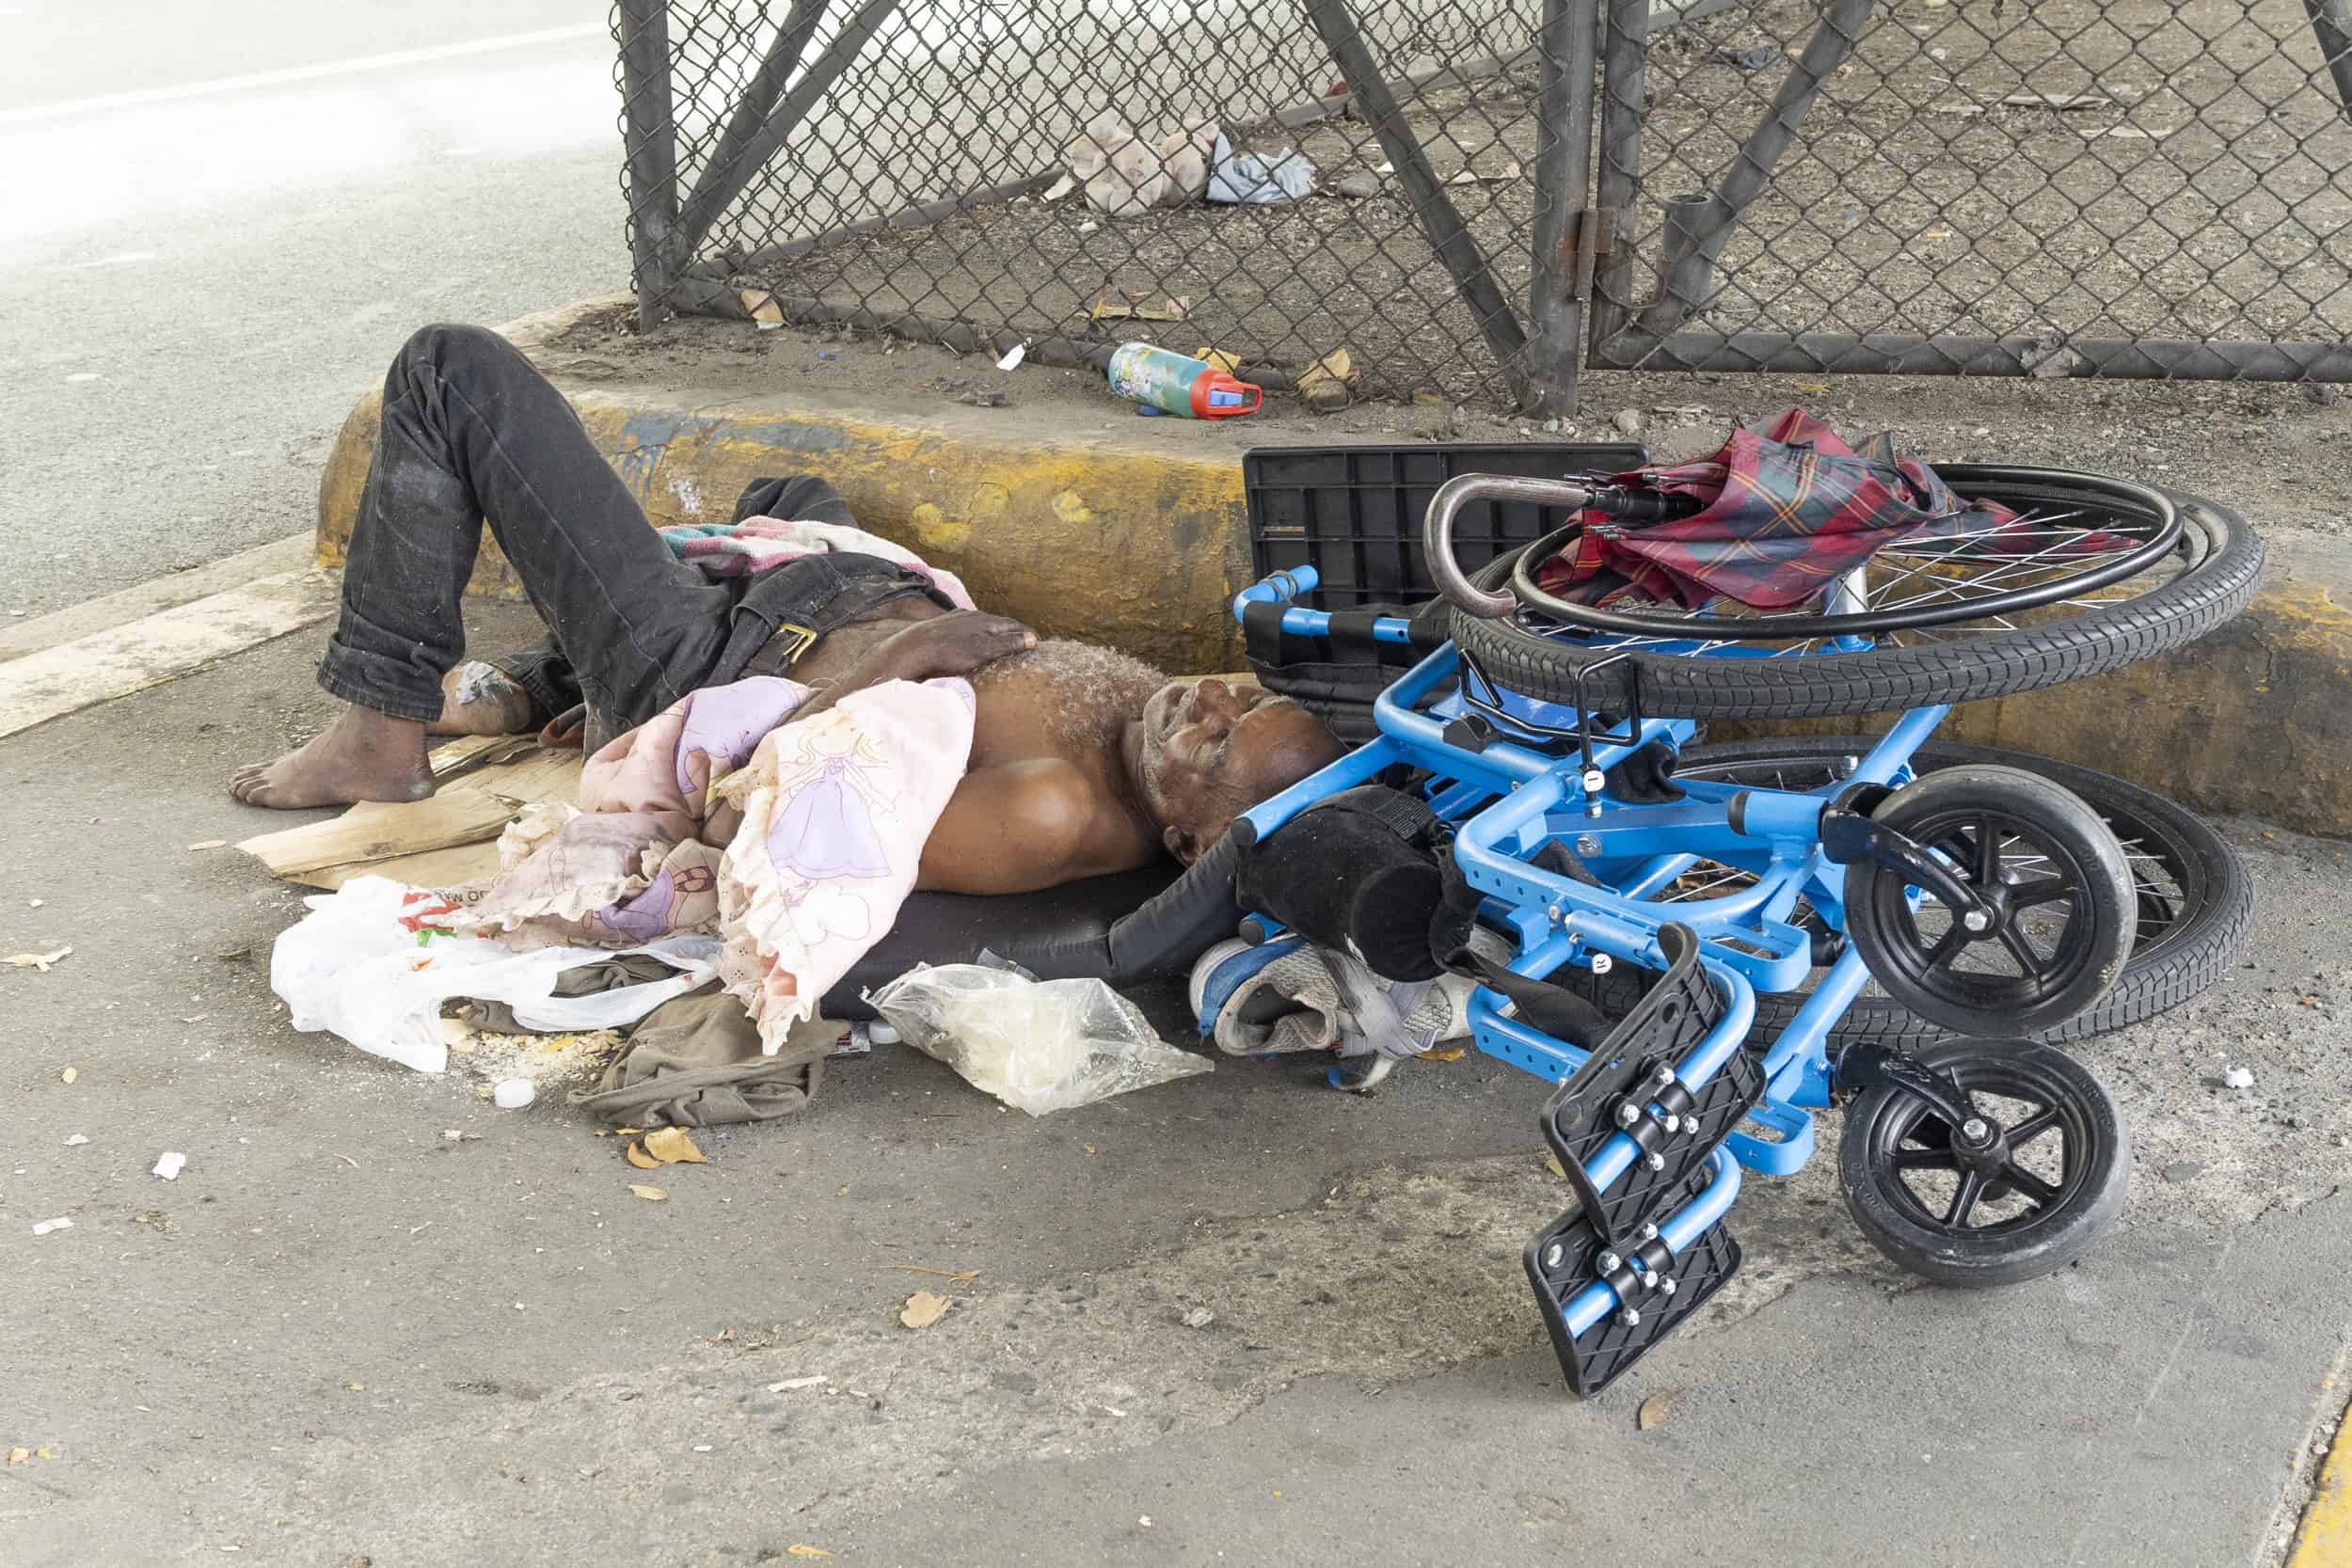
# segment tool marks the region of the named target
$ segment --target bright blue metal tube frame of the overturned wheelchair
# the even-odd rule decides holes
[[[1244,588],[1232,609],[1240,616],[1249,602],[1289,604],[1315,585],[1312,567],[1291,567]],[[1289,607],[1282,614],[1282,630],[1319,637],[1329,621],[1324,611]],[[1406,644],[1406,621],[1383,618],[1374,625],[1374,637]],[[1710,654],[1738,656],[1738,649],[1710,649]],[[1449,677],[1463,677],[1456,691],[1428,703]],[[1472,712],[1468,701],[1472,691],[1482,698],[1475,710],[1494,729],[1479,750],[1446,738],[1449,724]],[[1618,961],[1663,971],[1668,954],[1658,943],[1661,929],[1670,922],[1689,926],[1700,940],[1700,971],[1724,1001],[1715,1027],[1675,1065],[1675,1077],[1696,1093],[1745,1046],[1759,990],[1788,992],[1813,978],[1813,938],[1790,924],[1799,898],[1830,926],[1844,929],[1844,867],[1830,863],[1823,851],[1823,806],[1856,783],[1910,783],[1912,752],[1936,731],[1945,712],[1950,710],[1936,705],[1903,715],[1867,755],[1858,757],[1846,778],[1818,790],[1677,778],[1675,785],[1684,795],[1679,802],[1628,802],[1609,790],[1606,771],[1661,741],[1679,752],[1698,731],[1691,719],[1628,722],[1621,733],[1592,741],[1588,771],[1583,755],[1555,757],[1538,750],[1545,736],[1583,731],[1583,712],[1501,689],[1477,689],[1477,675],[1463,670],[1461,654],[1449,642],[1381,693],[1374,705],[1381,729],[1376,741],[1244,816],[1263,839],[1303,809],[1369,783],[1390,766],[1428,771],[1432,778],[1425,799],[1454,825],[1456,865],[1484,896],[1482,917],[1515,933],[1517,954],[1510,971],[1531,980],[1545,980],[1564,966],[1606,973]],[[1738,813],[1731,811],[1733,797],[1740,797]],[[1604,886],[1534,865],[1529,856],[1552,839],[1571,844]],[[1755,884],[1691,903],[1658,898],[1700,860],[1750,872]],[[1658,1239],[1677,1258],[1731,1208],[1743,1166],[1766,1175],[1790,1175],[1811,1157],[1811,1110],[1830,1103],[1835,1077],[1828,1053],[1830,1027],[1867,978],[1860,952],[1849,945],[1764,1051],[1764,1098],[1745,1121],[1771,1135],[1731,1131],[1710,1157],[1705,1190],[1656,1222]],[[1550,1084],[1569,1079],[1590,1060],[1590,1051],[1529,1027],[1508,1016],[1505,1006],[1505,999],[1484,985],[1470,999],[1472,1039],[1486,1056]],[[1656,1103],[1649,1105],[1651,1114],[1658,1110]],[[1623,1131],[1611,1133],[1585,1161],[1585,1175],[1597,1192],[1606,1192],[1642,1154],[1635,1138]],[[1632,1302],[1606,1279],[1595,1279],[1562,1307],[1566,1331],[1585,1335]]]

